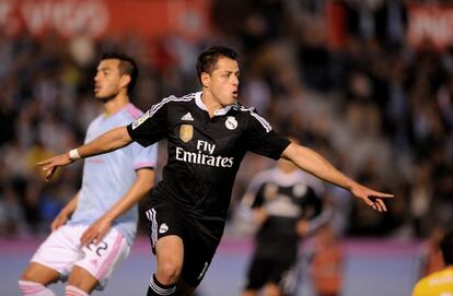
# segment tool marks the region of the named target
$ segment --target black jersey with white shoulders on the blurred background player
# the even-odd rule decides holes
[[[272,168],[252,180],[246,192],[252,200],[244,202],[251,208],[264,208],[268,215],[256,234],[258,253],[271,257],[286,250],[293,254],[300,240],[295,232],[298,221],[309,220],[311,225],[328,221],[328,213],[321,215],[326,210],[318,194],[321,188],[317,179],[300,170],[283,174]]]

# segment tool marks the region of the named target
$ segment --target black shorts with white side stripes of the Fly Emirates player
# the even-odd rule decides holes
[[[155,253],[158,239],[169,235],[181,237],[184,244],[182,277],[190,286],[198,286],[205,277],[220,239],[202,235],[190,218],[164,200],[153,200],[146,215],[153,252]]]

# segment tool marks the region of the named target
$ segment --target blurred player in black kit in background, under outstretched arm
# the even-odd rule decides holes
[[[330,206],[324,206],[323,186],[310,177],[280,159],[252,179],[241,206],[252,209],[258,229],[243,296],[295,293],[300,239],[332,216]]]

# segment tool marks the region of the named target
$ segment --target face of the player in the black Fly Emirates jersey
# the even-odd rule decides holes
[[[239,64],[230,58],[220,58],[209,75],[208,90],[221,106],[232,105],[237,99]]]

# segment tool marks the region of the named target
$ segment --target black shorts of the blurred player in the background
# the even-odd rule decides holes
[[[284,275],[292,270],[295,263],[295,256],[254,256],[248,268],[245,288],[260,289],[268,283],[281,285]]]

